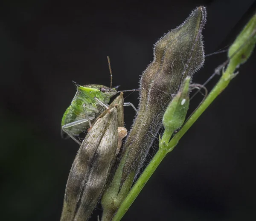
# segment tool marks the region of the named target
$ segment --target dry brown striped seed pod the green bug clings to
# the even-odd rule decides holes
[[[61,221],[90,217],[120,148],[118,130],[123,124],[121,93],[96,119],[79,148],[67,180]]]

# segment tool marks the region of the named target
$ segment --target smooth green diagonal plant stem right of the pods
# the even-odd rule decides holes
[[[134,184],[130,192],[128,193],[125,200],[120,205],[119,209],[117,210],[116,214],[114,215],[112,221],[119,221],[125,212],[129,209],[131,204],[134,202],[136,197],[139,195],[142,188],[145,186],[148,179],[156,170],[157,166],[161,163],[161,161],[165,158],[166,154],[173,150],[176,144],[179,142],[180,138],[186,133],[186,131],[195,123],[199,116],[209,107],[209,105],[214,101],[214,99],[221,94],[222,91],[227,87],[231,79],[233,79],[233,72],[236,70],[237,62],[235,60],[231,60],[227,66],[226,71],[222,74],[221,79],[219,79],[218,83],[212,89],[210,94],[204,100],[204,102],[198,107],[195,113],[188,119],[188,121],[183,125],[183,127],[179,130],[178,133],[171,139],[168,143],[167,148],[160,148],[153,159],[150,161],[146,169],[143,171],[140,178]],[[171,137],[172,134],[169,135]],[[163,135],[163,137],[168,137]]]

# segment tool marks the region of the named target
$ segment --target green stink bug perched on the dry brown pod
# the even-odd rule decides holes
[[[79,145],[81,142],[75,137],[79,136],[80,133],[86,131],[92,126],[91,121],[96,119],[105,108],[108,109],[108,103],[110,98],[119,92],[112,89],[112,71],[110,65],[110,59],[108,57],[108,66],[111,74],[111,85],[110,88],[103,85],[84,85],[81,86],[74,82],[76,86],[76,95],[74,96],[70,106],[65,111],[61,120],[61,136],[66,138],[70,136]],[[137,90],[128,90],[137,91]],[[131,103],[124,103],[124,106],[132,106]]]

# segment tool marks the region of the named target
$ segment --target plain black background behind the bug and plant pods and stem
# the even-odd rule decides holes
[[[253,0],[5,1],[0,23],[1,220],[59,220],[78,150],[73,140],[60,137],[61,117],[76,92],[72,80],[109,86],[109,55],[113,85],[138,88],[154,42],[200,5],[208,11],[206,54],[229,45],[256,8]],[[193,81],[207,80],[226,56],[207,57]],[[256,218],[255,60],[256,53],[183,136],[124,221]],[[125,101],[137,106],[137,97],[135,92]],[[193,100],[191,110],[200,99]],[[125,108],[128,128],[133,117],[132,108]]]

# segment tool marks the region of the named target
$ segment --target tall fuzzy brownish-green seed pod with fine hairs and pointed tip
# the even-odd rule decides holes
[[[127,160],[122,182],[130,173],[138,174],[158,130],[163,114],[180,83],[192,77],[204,63],[202,30],[206,9],[192,11],[185,22],[169,31],[154,46],[154,60],[140,80],[140,105],[131,132],[125,142]]]

